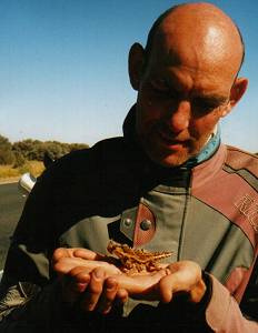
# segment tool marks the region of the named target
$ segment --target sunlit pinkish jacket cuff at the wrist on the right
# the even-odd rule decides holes
[[[211,281],[211,296],[206,309],[206,321],[209,327],[217,333],[258,333],[258,303],[254,305],[256,306],[256,317],[252,316],[251,320],[246,319],[240,311],[239,304],[230,295],[229,291],[216,278],[209,276]],[[257,294],[252,296],[256,296],[257,302]]]

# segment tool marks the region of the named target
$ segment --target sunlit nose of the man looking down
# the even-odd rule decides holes
[[[188,128],[190,109],[188,101],[179,101],[177,105],[170,107],[167,111],[167,124],[173,133],[179,133]]]

